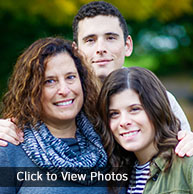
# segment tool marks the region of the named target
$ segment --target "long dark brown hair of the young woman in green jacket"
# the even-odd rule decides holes
[[[174,158],[180,122],[171,110],[166,88],[155,74],[140,67],[122,68],[112,72],[106,78],[99,94],[97,110],[103,121],[98,122],[98,130],[109,162],[112,167],[132,167],[136,161],[133,152],[124,150],[116,143],[109,126],[111,96],[128,88],[139,95],[140,102],[155,128],[154,142],[158,148],[157,155],[163,154],[163,157],[166,158],[166,171],[170,168]],[[169,151],[170,149],[172,151]]]

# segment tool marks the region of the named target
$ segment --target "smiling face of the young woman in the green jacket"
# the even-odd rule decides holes
[[[109,122],[116,141],[125,150],[137,156],[155,149],[154,127],[134,90],[125,89],[111,96]]]

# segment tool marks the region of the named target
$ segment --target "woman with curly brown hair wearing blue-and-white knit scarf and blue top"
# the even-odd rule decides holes
[[[94,189],[97,180],[89,176],[71,179],[71,175],[90,175],[99,168],[105,172],[107,165],[107,155],[94,130],[97,113],[93,103],[98,87],[71,45],[62,38],[49,37],[27,48],[16,62],[1,112],[3,118],[15,118],[24,142],[0,147],[0,166],[37,167],[44,178],[49,173],[57,180],[41,184],[40,176],[33,184],[33,180],[26,180],[26,172],[16,174],[16,168],[13,172],[8,168],[10,176],[3,176],[1,182],[7,187],[1,187],[0,193],[32,193],[31,187],[37,185],[33,193],[107,192],[105,187]]]

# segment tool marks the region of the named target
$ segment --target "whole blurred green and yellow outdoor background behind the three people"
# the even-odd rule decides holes
[[[72,20],[89,0],[0,0],[0,96],[17,57],[38,38],[72,39]],[[151,69],[193,128],[193,0],[109,0],[126,18],[134,52],[125,66]]]

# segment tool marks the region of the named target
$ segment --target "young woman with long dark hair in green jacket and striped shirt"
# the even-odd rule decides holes
[[[97,108],[110,164],[132,166],[127,193],[193,193],[193,158],[174,153],[180,123],[151,71],[131,67],[111,73]]]

